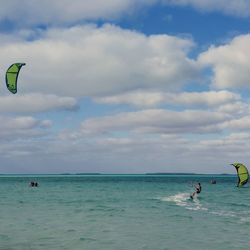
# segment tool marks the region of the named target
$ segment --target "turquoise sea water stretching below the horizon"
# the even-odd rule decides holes
[[[29,187],[31,180],[40,186]],[[195,181],[203,189],[191,201]],[[236,182],[232,176],[2,176],[0,249],[250,249],[250,187]]]

